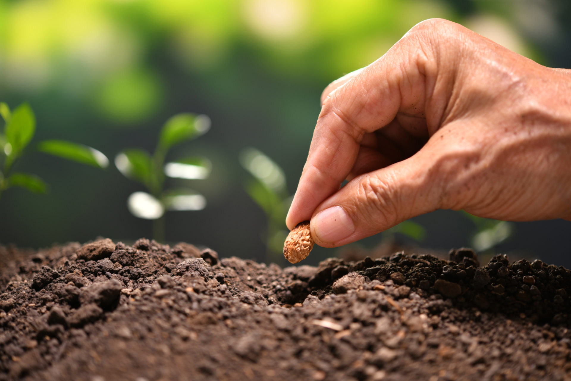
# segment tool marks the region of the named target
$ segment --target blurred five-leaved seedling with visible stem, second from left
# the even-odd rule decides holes
[[[205,179],[211,163],[202,157],[186,157],[165,164],[168,151],[175,145],[198,138],[210,129],[210,118],[190,113],[177,114],[168,119],[159,133],[154,154],[139,148],[124,149],[115,157],[117,169],[134,181],[142,183],[148,192],[134,192],[127,199],[132,215],[153,220],[152,235],[164,242],[165,217],[169,210],[201,210],[206,198],[186,187],[164,190],[167,177]]]

